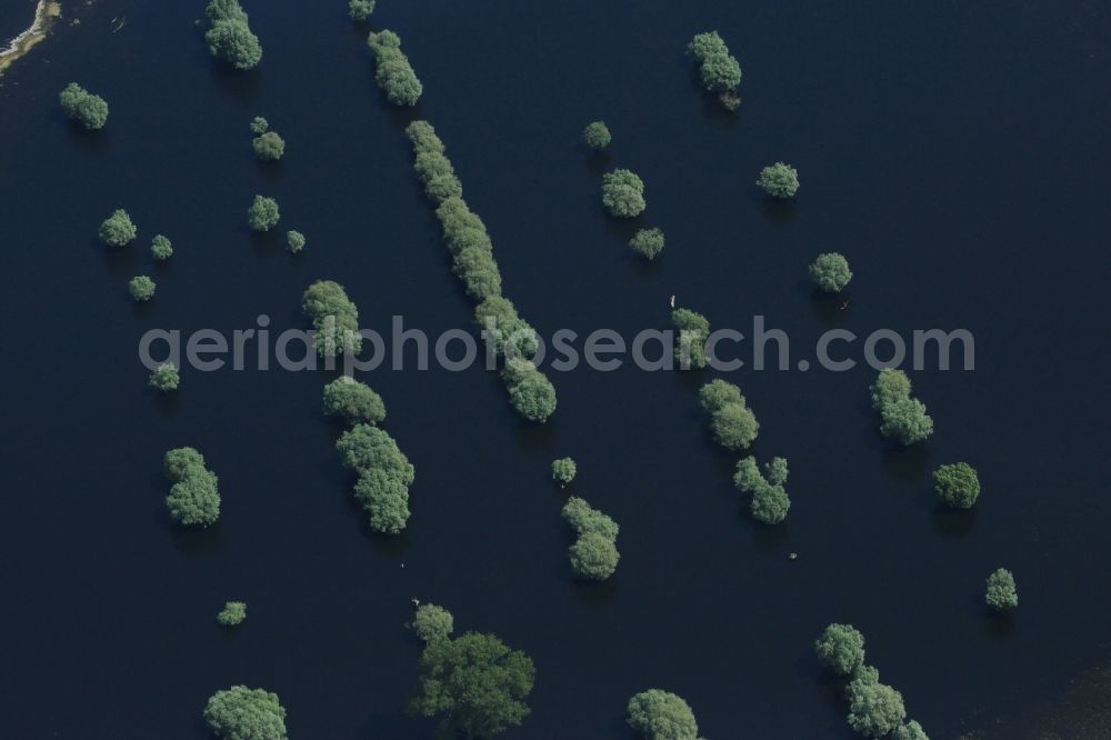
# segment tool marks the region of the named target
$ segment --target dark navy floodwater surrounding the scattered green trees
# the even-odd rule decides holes
[[[745,333],[767,314],[797,357],[831,326],[963,327],[978,366],[913,373],[937,433],[905,451],[875,432],[864,367],[733,373],[761,420],[755,454],[790,460],[793,508],[773,529],[744,512],[735,456],[697,410],[710,374],[553,373],[559,410],[537,429],[478,368],[378,370],[418,471],[392,540],[351,501],[326,373],[186,371],[163,400],[136,353],[154,327],[303,326],[319,278],[347,286],[364,326],[467,326],[411,116],[374,88],[344,4],[249,3],[266,56],[234,76],[207,56],[202,2],[106,0],[4,78],[0,734],[203,738],[206,698],[243,682],[281,696],[293,738],[430,737],[402,712],[414,596],[534,658],[532,714],[506,734],[522,740],[627,739],[624,704],[650,687],[685,697],[714,740],[848,738],[811,654],[834,620],[863,630],[934,739],[1023,737],[1030,708],[1111,659],[1105,4],[382,0],[376,26],[401,34],[418,113],[541,331],[662,328],[677,293]],[[735,118],[682,56],[709,28],[745,71]],[[103,132],[62,119],[71,80],[110,102]],[[256,114],[287,139],[277,169],[252,159]],[[595,118],[614,132],[603,162],[579,144]],[[777,159],[803,183],[782,209],[750,184]],[[617,164],[643,177],[643,222],[667,232],[651,268],[601,212],[599,173]],[[302,259],[246,232],[256,192],[308,236]],[[118,207],[140,239],[109,257],[96,228]],[[176,253],[154,268],[157,232]],[[804,283],[825,250],[855,270],[839,316]],[[140,272],[159,291],[143,310],[126,290]],[[203,532],[164,510],[161,454],[181,444],[220,476],[222,520]],[[562,454],[621,523],[607,586],[570,577],[548,479]],[[984,486],[965,517],[937,513],[930,491],[955,460]],[[1021,596],[1002,622],[981,603],[1000,566]],[[228,599],[250,607],[231,634],[214,623]]]

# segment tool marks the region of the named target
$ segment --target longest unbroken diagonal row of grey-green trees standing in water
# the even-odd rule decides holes
[[[406,134],[412,142],[414,169],[424,192],[437,204],[443,242],[452,254],[452,272],[462,280],[467,294],[479,301],[474,320],[504,360],[501,379],[510,403],[529,421],[544,422],[556,412],[556,388],[530,360],[537,350],[536,330],[502,296],[501,272],[486,224],[463,200],[462,184],[436,129],[428,121],[413,121]]]

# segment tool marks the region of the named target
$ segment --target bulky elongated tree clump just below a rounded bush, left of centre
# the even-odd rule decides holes
[[[356,500],[376,532],[397,534],[409,521],[409,487],[416,471],[398,443],[370,424],[357,424],[336,442],[343,464],[359,473]]]

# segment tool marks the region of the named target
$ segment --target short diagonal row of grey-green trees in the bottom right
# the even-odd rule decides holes
[[[832,623],[814,641],[814,652],[830,671],[849,679],[849,726],[865,738],[929,740],[922,726],[907,719],[902,694],[880,683],[880,672],[864,664],[864,636],[852,624]]]

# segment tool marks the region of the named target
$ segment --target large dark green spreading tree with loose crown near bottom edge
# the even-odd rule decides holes
[[[433,640],[418,668],[409,711],[441,716],[441,737],[489,738],[519,726],[529,713],[524,700],[536,677],[532,659],[492,634]]]

